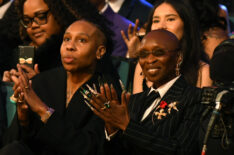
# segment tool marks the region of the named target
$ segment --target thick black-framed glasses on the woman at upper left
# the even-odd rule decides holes
[[[49,11],[50,10],[47,10],[45,12],[37,12],[33,18],[24,17],[23,19],[20,20],[20,22],[26,29],[32,27],[33,22],[35,22],[38,25],[47,24]]]

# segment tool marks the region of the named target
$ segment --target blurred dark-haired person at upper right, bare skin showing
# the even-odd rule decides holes
[[[203,49],[212,58],[214,49],[228,39],[230,30],[226,7],[218,0],[186,0],[194,8],[199,21]]]

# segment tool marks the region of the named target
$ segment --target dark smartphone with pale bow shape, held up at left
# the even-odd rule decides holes
[[[33,68],[34,52],[34,46],[19,46],[19,64],[24,64]]]

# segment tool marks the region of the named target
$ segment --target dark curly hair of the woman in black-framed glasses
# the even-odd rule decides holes
[[[19,19],[23,17],[23,6],[26,0],[15,0],[15,6],[18,11]],[[91,17],[97,11],[93,9],[90,4],[84,1],[70,1],[70,0],[43,0],[51,14],[61,27],[61,33],[63,34],[66,28],[74,21],[80,18]],[[74,4],[74,5],[73,5]],[[70,6],[73,6],[79,16],[76,16],[71,12]],[[93,16],[95,17],[95,16]],[[25,28],[20,24],[20,35],[22,40],[30,41]]]

